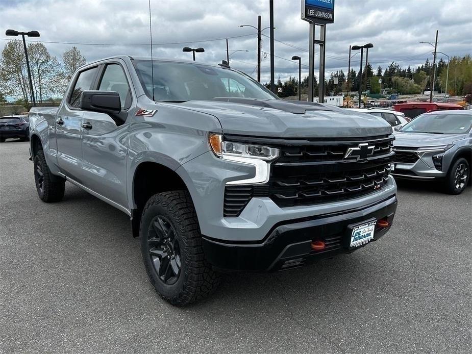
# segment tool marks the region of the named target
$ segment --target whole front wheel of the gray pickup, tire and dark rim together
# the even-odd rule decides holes
[[[139,237],[151,284],[170,304],[190,304],[208,296],[219,284],[219,275],[205,260],[188,192],[153,195],[142,212]]]

